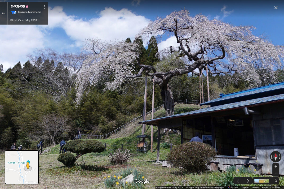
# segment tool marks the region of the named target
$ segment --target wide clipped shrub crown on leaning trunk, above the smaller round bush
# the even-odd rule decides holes
[[[103,145],[103,143],[96,140],[85,140],[75,145],[74,148],[74,152],[80,154],[103,152],[105,150],[105,146]]]

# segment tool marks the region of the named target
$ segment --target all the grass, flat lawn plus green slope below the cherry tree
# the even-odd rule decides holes
[[[178,104],[175,107],[175,114],[188,112],[198,109],[196,105],[185,105]],[[154,113],[154,118],[164,116],[165,111],[161,109]],[[148,118],[149,117],[149,118]],[[147,116],[147,119],[151,119],[151,115]],[[138,122],[138,121],[137,121]],[[137,123],[136,122],[136,123]],[[113,177],[118,172],[126,168],[135,168],[145,175],[145,179],[150,182],[144,185],[144,188],[155,188],[155,186],[218,186],[218,180],[222,176],[225,176],[228,180],[232,180],[231,177],[220,172],[209,172],[206,171],[202,174],[196,173],[185,173],[181,172],[176,168],[162,167],[162,165],[154,165],[156,162],[156,149],[157,149],[157,128],[154,127],[153,135],[153,150],[154,152],[148,151],[147,153],[136,153],[137,135],[141,135],[142,125],[132,124],[122,129],[115,135],[101,141],[103,144],[106,143],[106,151],[101,153],[89,153],[81,156],[76,161],[77,165],[73,167],[65,167],[62,163],[57,161],[59,156],[59,145],[51,146],[49,152],[45,152],[39,155],[39,184],[29,185],[13,185],[5,184],[4,178],[4,164],[0,165],[0,188],[105,188],[104,177],[110,175]],[[146,139],[150,145],[151,127],[146,126]],[[163,133],[161,130],[161,145],[160,145],[160,161],[166,160],[167,154],[170,152],[166,143],[172,143],[174,146],[180,144],[180,135],[176,133]],[[125,165],[110,165],[108,155],[113,152],[114,149],[121,148],[131,150],[133,156],[132,160]],[[0,152],[1,153],[1,152]],[[4,161],[5,153],[0,154],[0,161]],[[82,164],[85,162],[85,165]],[[237,174],[233,176],[239,177],[255,177],[253,174]],[[266,175],[263,175],[265,177]],[[17,178],[16,178],[17,179]],[[222,179],[221,179],[222,180]],[[224,181],[224,179],[223,179]],[[164,183],[167,182],[167,183]],[[280,185],[284,185],[284,177],[280,179]],[[118,188],[118,187],[116,187]]]

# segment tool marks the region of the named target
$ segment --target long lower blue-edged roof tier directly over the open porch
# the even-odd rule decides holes
[[[262,97],[262,98],[257,98],[257,99],[251,99],[251,100],[235,102],[235,103],[230,103],[230,104],[223,104],[223,105],[220,105],[220,106],[203,108],[203,109],[199,109],[199,110],[195,110],[195,111],[191,111],[191,112],[185,112],[185,113],[176,114],[176,115],[172,115],[172,116],[156,118],[156,119],[153,119],[153,120],[146,120],[146,121],[142,121],[142,122],[139,122],[139,123],[145,123],[145,124],[148,124],[148,125],[156,125],[156,124],[153,124],[153,123],[156,122],[156,121],[159,121],[159,120],[170,119],[170,118],[178,118],[178,117],[187,116],[187,115],[211,113],[211,112],[216,112],[216,111],[221,111],[221,110],[225,111],[225,110],[242,108],[242,107],[247,107],[247,106],[260,105],[260,104],[263,104],[263,103],[269,103],[269,102],[279,101],[279,100],[284,101],[284,94]]]

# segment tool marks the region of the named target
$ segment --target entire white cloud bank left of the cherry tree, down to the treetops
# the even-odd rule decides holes
[[[138,3],[138,2],[137,2]],[[94,12],[95,15],[95,12]],[[74,15],[67,15],[62,7],[49,7],[48,25],[2,25],[0,26],[0,64],[4,70],[14,66],[18,61],[23,64],[26,54],[32,53],[37,48],[62,49],[62,45],[70,48],[81,48],[86,38],[97,37],[102,40],[124,40],[128,37],[133,41],[135,35],[147,26],[149,20],[137,15],[131,10],[115,10],[106,7],[99,12],[99,16],[85,20]],[[62,28],[66,35],[74,41],[67,44],[65,36],[52,43],[53,29]],[[60,47],[60,43],[62,44]],[[53,46],[45,46],[45,44]],[[65,48],[66,49],[66,48]]]

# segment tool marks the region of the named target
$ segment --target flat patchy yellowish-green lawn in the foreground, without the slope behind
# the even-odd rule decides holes
[[[91,153],[83,155],[77,160],[79,165],[70,168],[66,168],[62,163],[57,161],[59,154],[40,155],[39,184],[28,185],[28,188],[105,188],[103,177],[107,177],[108,175],[113,176],[127,167],[143,172],[145,179],[150,181],[145,184],[145,188],[155,188],[155,186],[161,185],[217,186],[218,177],[224,175],[224,173],[209,171],[202,174],[188,174],[176,168],[153,165],[152,163],[156,159],[155,152],[147,152],[146,154],[134,153],[132,160],[126,165],[110,165],[107,157],[110,152],[108,150],[100,154]],[[169,149],[162,148],[160,159],[164,160],[168,152]],[[0,160],[4,161],[4,153],[0,154]],[[80,166],[82,161],[86,162],[85,166]],[[3,164],[0,165],[0,173],[0,188],[27,188],[27,185],[5,185]],[[254,177],[255,175],[245,174],[241,176]],[[265,176],[263,175],[263,177]],[[281,177],[280,184],[284,185],[284,177]]]

